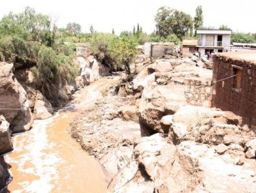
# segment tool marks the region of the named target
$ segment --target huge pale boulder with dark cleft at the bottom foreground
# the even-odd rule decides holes
[[[154,134],[138,141],[135,161],[131,159],[118,174],[115,192],[191,192],[200,183],[196,159],[177,150],[163,136]]]

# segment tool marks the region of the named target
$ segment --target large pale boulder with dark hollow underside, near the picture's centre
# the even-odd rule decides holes
[[[139,102],[139,121],[143,136],[169,132],[170,127],[161,123],[161,119],[165,115],[174,114],[185,103],[183,89],[178,88],[176,92],[174,89],[174,85],[151,85],[143,90]]]

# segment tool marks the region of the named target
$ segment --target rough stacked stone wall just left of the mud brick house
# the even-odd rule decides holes
[[[212,86],[211,81],[185,79],[185,98],[190,105],[210,107]]]

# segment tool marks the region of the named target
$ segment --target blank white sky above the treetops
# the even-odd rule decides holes
[[[1,3],[0,18],[30,6],[50,15],[60,28],[75,22],[82,26],[82,32],[89,32],[92,24],[97,32],[112,32],[113,28],[119,34],[140,23],[143,32],[151,33],[156,28],[154,17],[158,8],[167,6],[194,17],[200,5],[204,26],[219,28],[224,24],[235,32],[256,32],[255,0],[7,0]]]

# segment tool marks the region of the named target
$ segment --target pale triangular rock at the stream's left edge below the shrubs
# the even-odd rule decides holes
[[[34,106],[34,119],[42,120],[53,116],[51,103],[40,93],[37,92]]]

